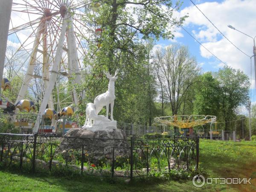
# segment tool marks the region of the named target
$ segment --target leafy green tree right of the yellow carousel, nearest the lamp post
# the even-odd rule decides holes
[[[220,69],[214,76],[219,82],[220,111],[225,120],[225,130],[228,130],[236,108],[247,105],[249,101],[250,81],[241,70],[231,67]]]

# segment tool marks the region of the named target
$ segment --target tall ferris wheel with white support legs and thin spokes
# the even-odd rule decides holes
[[[12,67],[14,76],[22,81],[15,103],[26,99],[28,90],[34,92],[32,79],[41,79],[39,114],[43,115],[47,105],[54,109],[57,104],[57,110],[61,109],[59,99],[52,98],[60,76],[62,81],[81,84],[82,59],[87,55],[88,41],[95,38],[95,26],[84,22],[85,12],[93,11],[90,6],[91,2],[84,0],[13,0],[9,39],[18,46],[14,54],[6,55],[5,67]],[[24,69],[25,77],[20,77]],[[76,110],[84,93],[73,88],[70,96]],[[40,118],[34,132],[39,125]]]

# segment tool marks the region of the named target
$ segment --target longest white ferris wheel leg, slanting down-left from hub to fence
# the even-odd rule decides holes
[[[38,129],[40,127],[40,123],[41,123],[41,119],[40,116],[42,116],[44,114],[44,110],[46,109],[47,103],[49,101],[49,98],[51,96],[52,93],[52,89],[54,87],[54,84],[56,82],[57,76],[58,76],[58,69],[61,63],[61,55],[62,55],[62,50],[63,50],[63,44],[64,44],[64,39],[65,39],[65,33],[66,33],[66,29],[67,29],[67,14],[64,17],[64,22],[61,28],[61,34],[60,34],[60,39],[57,45],[57,51],[56,51],[56,56],[55,56],[55,60],[53,62],[53,67],[52,67],[52,72],[49,78],[49,85],[47,87],[47,89],[45,90],[44,93],[44,99],[42,100],[39,112],[38,112],[38,117],[36,119],[35,122],[35,127],[33,128],[33,132],[38,132]]]

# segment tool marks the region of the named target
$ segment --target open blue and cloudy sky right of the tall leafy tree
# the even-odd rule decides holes
[[[230,29],[232,25],[241,32],[254,37],[256,35],[256,0],[192,0],[201,12],[233,43],[249,56],[253,55],[253,39]],[[252,68],[250,57],[234,47],[220,32],[207,20],[190,0],[184,0],[177,15],[188,15],[183,27],[193,35],[210,52],[221,61],[234,69],[240,69],[247,74],[251,81],[250,97],[252,103],[256,103],[254,61]],[[192,56],[197,58],[202,71],[218,71],[224,64],[196,42],[183,29],[175,29],[174,40],[156,42],[159,46],[179,43],[189,47]],[[251,72],[252,71],[252,72]]]

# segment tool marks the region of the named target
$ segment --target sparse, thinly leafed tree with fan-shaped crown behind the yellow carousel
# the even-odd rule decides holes
[[[189,88],[195,83],[200,71],[195,58],[190,57],[187,47],[173,44],[157,49],[154,64],[163,92],[169,99],[172,115],[178,113],[187,99]]]

